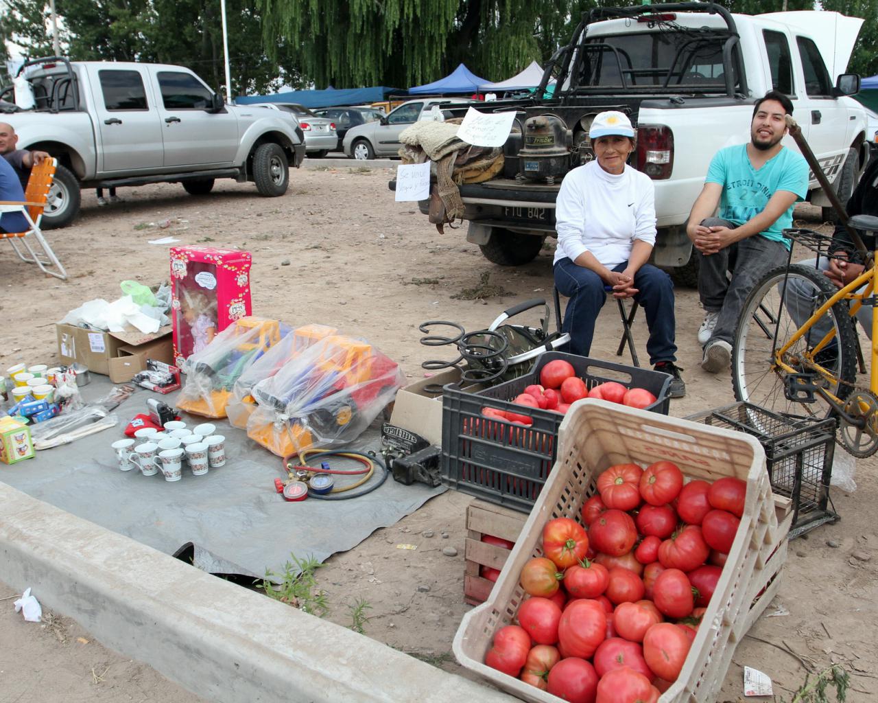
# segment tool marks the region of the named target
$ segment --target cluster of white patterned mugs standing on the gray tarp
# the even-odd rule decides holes
[[[164,431],[144,427],[134,432],[134,439],[119,439],[112,448],[120,471],[140,469],[145,476],[161,471],[165,481],[179,481],[184,461],[195,476],[225,465],[226,438],[213,434],[215,430],[211,423],[189,430],[184,422],[172,420],[164,424]]]

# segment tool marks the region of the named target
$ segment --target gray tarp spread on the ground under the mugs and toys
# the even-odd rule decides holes
[[[86,400],[112,388],[104,376],[92,379],[83,388]],[[193,476],[184,467],[183,479],[174,483],[164,481],[161,473],[119,471],[112,442],[124,437],[132,417],[146,412],[148,398],[173,405],[175,396],[139,389],[115,410],[116,427],[38,452],[34,459],[0,464],[0,481],[167,554],[191,542],[199,569],[247,576],[263,576],[266,568],[277,571],[291,553],[325,561],[444,490],[404,486],[388,477],[378,490],[352,500],[287,503],[274,488],[274,479],[282,476],[280,459],[226,420],[194,416],[183,417],[190,428],[212,422],[227,438],[226,466],[205,476]],[[377,450],[377,427],[380,423],[349,448]]]

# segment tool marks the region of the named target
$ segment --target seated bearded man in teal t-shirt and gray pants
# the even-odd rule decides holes
[[[752,287],[787,261],[781,231],[793,225],[809,174],[802,155],[781,144],[792,113],[783,93],[768,91],[757,100],[750,142],[717,152],[689,215],[686,233],[699,257],[698,294],[707,313],[698,341],[710,373],[729,367],[732,334]],[[717,206],[719,216],[712,217]]]

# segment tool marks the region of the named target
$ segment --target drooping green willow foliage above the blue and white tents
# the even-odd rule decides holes
[[[503,80],[543,62],[594,0],[258,0],[265,50],[295,45],[320,88],[434,81],[459,62]]]

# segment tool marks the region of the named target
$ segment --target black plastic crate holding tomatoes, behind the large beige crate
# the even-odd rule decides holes
[[[442,479],[446,486],[490,503],[530,512],[555,464],[558,427],[564,416],[551,410],[515,405],[513,398],[534,383],[553,359],[569,361],[587,388],[615,380],[626,388],[645,388],[656,396],[648,410],[667,415],[671,376],[637,366],[546,352],[528,373],[499,386],[467,393],[454,384],[443,389]],[[482,416],[482,408],[512,410],[531,417],[524,426]]]

